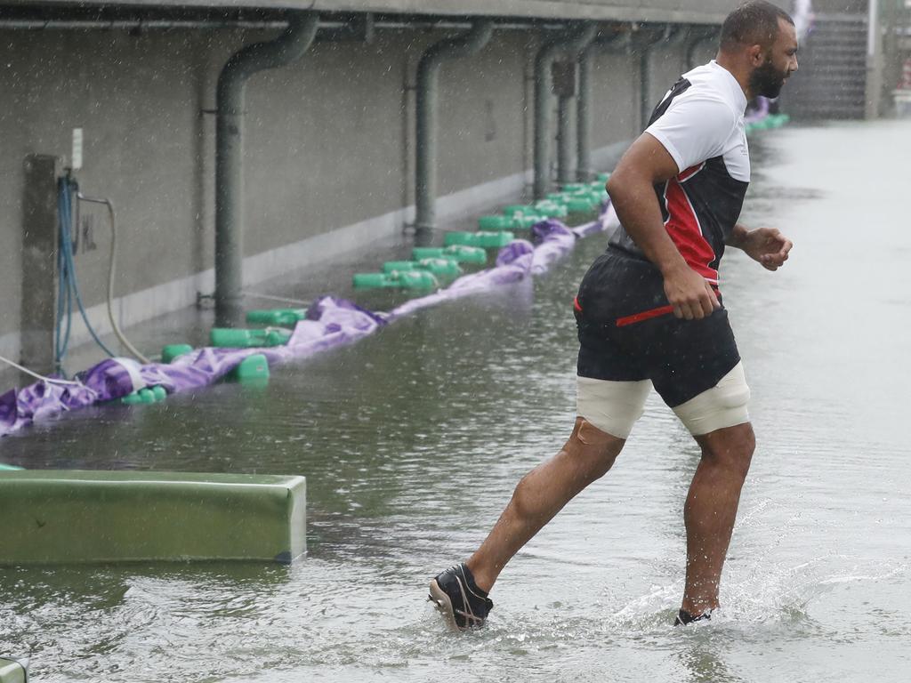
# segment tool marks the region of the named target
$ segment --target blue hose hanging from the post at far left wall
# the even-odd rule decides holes
[[[55,335],[55,360],[57,371],[61,370],[63,359],[67,355],[69,333],[72,327],[73,300],[76,300],[82,320],[86,323],[88,332],[92,335],[97,345],[108,356],[115,354],[105,346],[91,323],[88,321],[86,308],[82,305],[82,296],[76,278],[76,263],[73,260],[73,241],[70,230],[73,225],[73,193],[77,191],[76,182],[70,178],[60,178],[57,182],[57,212],[60,222],[60,239],[57,249],[57,272],[59,282],[57,287],[57,322]],[[61,330],[61,323],[65,325]]]

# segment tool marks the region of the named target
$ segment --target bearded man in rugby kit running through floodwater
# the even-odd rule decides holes
[[[737,219],[750,180],[743,111],[797,70],[793,20],[752,0],[722,25],[714,60],[670,88],[610,177],[621,227],[574,301],[578,417],[568,442],[517,485],[475,554],[430,583],[458,629],[484,624],[496,577],[576,494],[606,474],[652,386],[701,447],[683,517],[686,586],[676,623],[711,617],[755,448],[740,354],[718,291],[725,245],[768,270],[792,243]]]

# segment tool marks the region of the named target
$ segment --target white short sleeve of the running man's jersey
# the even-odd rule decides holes
[[[731,107],[722,99],[694,93],[676,98],[645,132],[668,150],[683,172],[721,156],[736,123]]]

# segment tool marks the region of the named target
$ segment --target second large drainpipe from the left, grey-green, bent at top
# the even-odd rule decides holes
[[[494,33],[489,19],[478,21],[463,36],[428,47],[417,65],[415,116],[415,236],[436,224],[436,101],[440,66],[445,59],[476,54]]]

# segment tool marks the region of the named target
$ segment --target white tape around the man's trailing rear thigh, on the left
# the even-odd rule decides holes
[[[630,436],[642,415],[651,382],[609,382],[577,377],[576,410],[602,432],[620,439]]]

